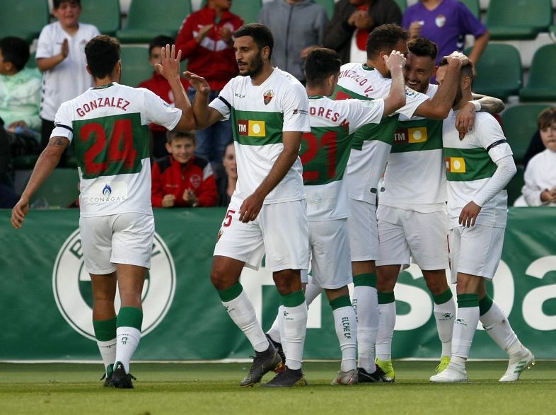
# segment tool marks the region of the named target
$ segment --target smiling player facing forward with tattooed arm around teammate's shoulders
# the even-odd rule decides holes
[[[439,89],[431,85],[438,47],[424,37],[407,42],[405,85],[434,97]],[[456,119],[460,131],[473,126],[475,105],[479,110],[500,112],[504,104],[497,98],[476,95],[466,102]],[[451,356],[456,304],[448,288],[448,223],[446,219],[446,173],[442,156],[442,120],[424,117],[407,119],[400,115],[392,151],[384,174],[384,192],[378,201],[378,296],[391,296],[400,267],[413,257],[423,271],[432,293],[436,329],[442,344],[440,373]],[[381,305],[376,352],[379,361],[391,365],[395,325],[395,303]],[[380,366],[381,363],[378,363]],[[383,363],[384,364],[384,363]]]

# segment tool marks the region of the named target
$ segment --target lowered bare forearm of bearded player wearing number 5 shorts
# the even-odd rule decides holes
[[[302,131],[284,131],[284,149],[270,169],[267,177],[262,180],[255,192],[247,197],[239,208],[239,220],[242,222],[254,221],[262,208],[267,194],[284,178],[288,170],[294,165],[301,146]]]

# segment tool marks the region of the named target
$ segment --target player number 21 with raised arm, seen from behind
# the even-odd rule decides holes
[[[348,284],[352,283],[349,264],[349,199],[344,172],[349,158],[354,131],[366,124],[378,124],[383,117],[405,104],[400,52],[384,55],[393,82],[390,93],[378,100],[342,100],[328,98],[340,76],[340,56],[332,49],[318,48],[305,61],[311,132],[303,134],[301,163],[303,184],[307,194],[309,250],[313,278],[306,291],[311,304],[324,291],[332,308],[342,363],[332,385],[355,385],[358,382],[357,320],[349,300]],[[279,319],[280,312],[277,319]],[[279,326],[276,324],[275,326]],[[268,333],[279,344],[279,327]],[[274,335],[274,337],[272,337]]]

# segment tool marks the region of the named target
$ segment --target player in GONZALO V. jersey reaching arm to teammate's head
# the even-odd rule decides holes
[[[367,40],[367,62],[342,65],[335,99],[383,98],[390,89],[390,74],[383,56],[398,50],[407,54],[407,32],[398,25],[381,25],[374,29]],[[406,104],[397,112],[412,117],[444,119],[456,96],[456,80],[461,64],[466,58],[461,54],[448,57],[446,82],[434,98],[406,88]],[[378,125],[368,125],[355,132],[347,164],[349,192],[349,245],[352,253],[354,281],[353,303],[357,312],[357,344],[359,348],[359,382],[393,381],[391,366],[376,370],[375,342],[378,331],[378,301],[393,303],[393,293],[378,298],[376,291],[375,260],[378,259],[378,230],[376,225],[377,184],[386,167],[386,160],[393,144],[398,117],[386,117]],[[388,362],[385,362],[388,363]],[[378,363],[378,366],[381,366]]]

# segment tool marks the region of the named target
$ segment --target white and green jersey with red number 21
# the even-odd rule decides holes
[[[309,221],[332,221],[349,216],[344,172],[353,132],[381,122],[384,100],[333,101],[309,96],[311,132],[303,134],[301,163]]]

